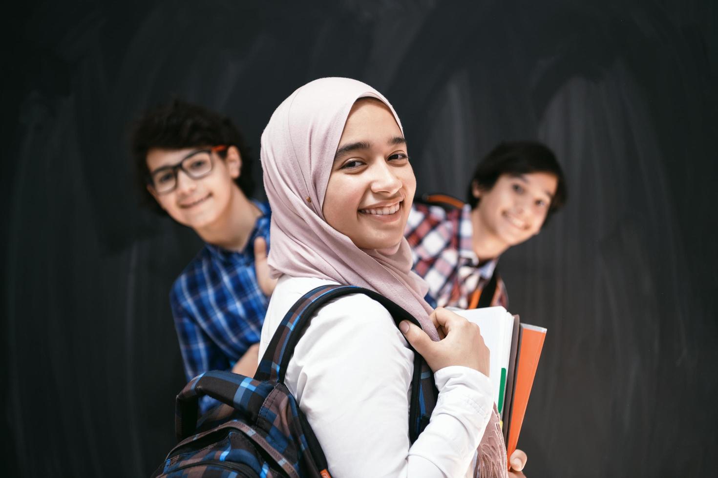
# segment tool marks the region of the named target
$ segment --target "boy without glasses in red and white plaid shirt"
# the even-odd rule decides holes
[[[467,204],[446,198],[414,201],[405,234],[414,270],[439,307],[506,307],[500,254],[538,234],[566,202],[556,156],[536,141],[500,143],[477,165]]]

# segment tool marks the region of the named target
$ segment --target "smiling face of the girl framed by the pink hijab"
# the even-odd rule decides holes
[[[391,110],[355,102],[344,125],[322,214],[360,249],[392,249],[404,237],[416,178]]]

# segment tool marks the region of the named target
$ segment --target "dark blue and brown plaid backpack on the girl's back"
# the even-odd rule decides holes
[[[401,320],[419,325],[409,312],[362,287],[325,285],[307,292],[286,312],[254,378],[210,371],[187,383],[177,396],[179,443],[152,477],[330,478],[322,447],[284,385],[284,374],[304,328],[320,307],[358,293],[380,302],[397,325]],[[205,395],[223,404],[197,420],[197,402]],[[408,417],[411,443],[429,424],[437,396],[434,374],[414,353]]]

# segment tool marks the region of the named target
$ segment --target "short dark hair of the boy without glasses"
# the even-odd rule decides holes
[[[479,204],[479,198],[473,194],[476,183],[484,191],[490,191],[502,174],[518,176],[528,173],[549,173],[556,176],[556,193],[551,199],[546,220],[566,204],[568,192],[564,171],[556,161],[554,152],[538,141],[505,141],[499,143],[476,167],[467,191],[467,203],[471,209]]]

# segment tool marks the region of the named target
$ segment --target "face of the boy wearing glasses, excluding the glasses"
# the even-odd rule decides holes
[[[177,165],[196,151],[209,149],[209,147],[180,150],[153,148],[147,152],[147,168],[151,174],[163,166]],[[177,171],[177,186],[172,191],[157,193],[153,186],[147,186],[159,206],[167,211],[172,219],[195,231],[215,224],[226,211],[230,210],[233,194],[238,192],[238,186],[234,183],[241,170],[241,158],[237,148],[230,146],[225,159],[220,158],[215,152],[210,154],[213,167],[206,176],[193,179],[180,169]]]

